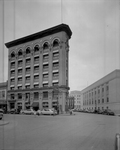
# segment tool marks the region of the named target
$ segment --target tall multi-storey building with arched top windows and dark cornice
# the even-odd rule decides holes
[[[69,91],[68,25],[6,43],[8,48],[8,110],[59,106],[65,111]]]

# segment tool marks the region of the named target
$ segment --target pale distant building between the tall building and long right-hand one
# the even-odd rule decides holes
[[[74,97],[74,108],[81,109],[81,91],[71,91],[70,97]]]

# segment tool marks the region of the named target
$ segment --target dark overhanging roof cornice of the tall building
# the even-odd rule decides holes
[[[48,35],[51,35],[54,33],[61,32],[61,31],[65,31],[67,33],[69,39],[71,38],[72,31],[70,30],[69,26],[66,24],[60,24],[60,25],[54,26],[52,28],[43,30],[41,32],[37,32],[37,33],[31,34],[29,36],[25,36],[25,37],[16,39],[14,41],[5,43],[5,45],[7,48],[10,48],[10,47],[13,47],[13,46],[16,46],[16,45],[19,45],[22,43],[26,43],[29,41],[33,41],[33,40],[36,40],[36,39],[39,39],[39,38],[42,38],[42,37],[45,37],[45,36],[48,36]]]

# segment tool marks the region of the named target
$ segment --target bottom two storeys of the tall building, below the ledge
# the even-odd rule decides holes
[[[34,110],[43,108],[55,108],[61,112],[66,111],[68,90],[59,91],[50,90],[27,90],[8,92],[7,109],[25,110],[33,108]]]

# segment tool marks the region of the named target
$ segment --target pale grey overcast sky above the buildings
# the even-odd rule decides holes
[[[72,31],[70,91],[120,69],[119,0],[0,0],[0,82],[8,77],[4,43],[61,23]]]

